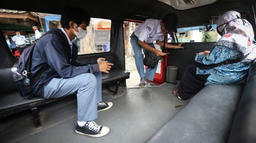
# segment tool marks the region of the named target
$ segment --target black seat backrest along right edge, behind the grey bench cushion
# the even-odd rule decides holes
[[[256,60],[251,64],[247,82],[229,134],[229,143],[256,143]]]

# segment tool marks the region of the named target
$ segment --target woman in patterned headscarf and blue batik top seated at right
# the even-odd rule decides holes
[[[256,58],[256,45],[252,25],[236,11],[228,11],[218,18],[217,32],[222,36],[211,51],[200,52],[195,61],[209,67],[200,69],[189,65],[180,80],[179,89],[172,92],[180,100],[187,100],[194,91],[207,84],[242,84],[246,82],[251,62]],[[248,55],[249,54],[249,55]],[[241,61],[218,66],[227,60],[247,57]],[[201,66],[201,68],[203,68]]]

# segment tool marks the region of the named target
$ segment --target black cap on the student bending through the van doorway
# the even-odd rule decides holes
[[[165,14],[165,16],[163,16],[162,21],[164,23],[164,27],[166,30],[170,32],[177,32],[177,24],[178,24],[179,18],[176,14],[167,13]]]

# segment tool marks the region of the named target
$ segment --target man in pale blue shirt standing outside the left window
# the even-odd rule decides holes
[[[15,30],[15,36],[13,36],[13,42],[16,44],[16,48],[18,49],[20,55],[26,46],[26,38],[23,35],[20,35],[19,30]]]

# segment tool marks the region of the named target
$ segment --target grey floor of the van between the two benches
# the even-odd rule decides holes
[[[120,88],[118,96],[103,92],[113,107],[94,120],[110,128],[109,134],[91,138],[75,133],[76,98],[68,97],[38,107],[42,127],[35,128],[29,111],[0,120],[1,143],[144,143],[167,123],[189,100],[181,101],[171,92],[171,83],[149,88]],[[112,96],[112,97],[111,97]]]

